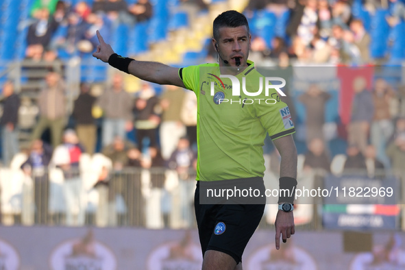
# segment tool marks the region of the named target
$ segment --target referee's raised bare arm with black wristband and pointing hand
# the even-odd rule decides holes
[[[97,46],[97,50],[93,53],[93,56],[103,62],[112,64],[112,59],[110,59],[110,57],[114,54],[114,50],[109,44],[104,42],[103,37],[98,30],[97,38],[99,39],[99,45]],[[114,56],[112,56],[112,58],[114,58]],[[179,69],[173,66],[167,66],[166,64],[159,62],[130,60],[130,58],[124,60],[124,58],[121,57],[116,58],[114,62],[116,63],[117,60],[120,64],[122,62],[122,64],[125,65],[124,68],[127,67],[127,73],[132,74],[139,79],[143,79],[147,82],[154,82],[156,84],[172,84],[185,88],[178,75]]]

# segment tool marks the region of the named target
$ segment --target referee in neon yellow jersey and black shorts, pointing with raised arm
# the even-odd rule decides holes
[[[229,10],[214,20],[212,46],[217,51],[218,64],[177,69],[158,62],[137,61],[114,53],[98,31],[97,37],[95,58],[149,82],[187,88],[197,96],[195,214],[204,256],[202,269],[242,269],[243,251],[262,218],[265,204],[241,204],[237,200],[234,204],[200,203],[204,197],[199,194],[201,186],[243,182],[263,190],[262,145],[267,133],[281,156],[280,189],[290,191],[280,193],[278,199],[275,247],[279,249],[280,236],[285,243],[295,233],[297,150],[291,136],[295,129],[289,108],[280,101],[275,89],[265,87],[265,77],[247,60],[251,35],[245,16]],[[239,84],[234,84],[235,78]]]

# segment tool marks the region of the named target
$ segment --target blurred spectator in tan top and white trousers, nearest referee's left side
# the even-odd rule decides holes
[[[160,145],[162,157],[167,160],[176,148],[178,140],[186,135],[186,127],[181,121],[185,91],[177,86],[167,86],[160,95],[162,122],[160,123]]]

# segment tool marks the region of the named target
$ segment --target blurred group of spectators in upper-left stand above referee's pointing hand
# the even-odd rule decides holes
[[[44,3],[42,3],[44,2]],[[32,60],[45,58],[45,53],[62,52],[68,56],[83,56],[97,46],[96,29],[105,38],[121,23],[134,27],[148,21],[153,15],[149,0],[128,4],[125,0],[70,1],[37,0],[32,6],[26,24],[27,49],[25,57]]]

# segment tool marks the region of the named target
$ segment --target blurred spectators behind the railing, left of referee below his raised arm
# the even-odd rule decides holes
[[[100,208],[97,208],[101,214],[97,212],[95,219],[97,224],[107,224],[108,214],[102,212],[111,207],[108,206],[112,204],[111,198],[128,197],[115,194],[116,188],[128,188],[123,184],[117,186],[116,182],[123,181],[121,175],[137,175],[136,172],[143,169],[154,172],[150,176],[150,188],[164,188],[162,169],[174,171],[177,175],[175,182],[182,181],[186,185],[192,182],[189,181],[193,177],[190,172],[195,171],[197,160],[195,95],[187,95],[186,90],[173,86],[167,86],[161,95],[156,95],[154,88],[147,82],[141,84],[135,95],[130,95],[124,90],[123,73],[114,73],[111,86],[99,97],[92,95],[90,84],[80,85],[80,93],[73,103],[71,114],[74,124],[69,126],[66,121],[69,116],[64,106],[64,80],[58,73],[49,71],[45,82],[38,95],[38,122],[32,130],[29,149],[19,147],[20,98],[13,93],[12,82],[6,83],[3,89],[5,111],[0,119],[4,144],[3,168],[8,168],[10,162],[15,164],[15,157],[18,157],[21,162],[19,168],[31,177],[34,183],[34,223],[49,223],[63,217],[66,225],[84,224],[87,209],[84,198],[87,197],[86,192],[94,188],[101,196]],[[103,112],[99,133],[94,116],[95,108]],[[182,114],[186,114],[188,118],[185,123],[182,122]],[[49,130],[49,136],[46,130]],[[97,141],[100,142],[99,147]],[[21,154],[26,160],[21,160]],[[111,166],[103,165],[96,170],[87,165],[80,167],[83,160],[91,159],[92,156],[97,158],[97,154],[102,154]],[[60,170],[63,179],[62,188],[58,191],[55,184],[52,184],[51,178],[55,177],[55,174],[50,171],[53,169]],[[90,178],[84,178],[88,170],[97,174],[97,177],[91,178],[94,183],[86,188],[84,183]],[[138,180],[134,181],[140,184],[141,180],[138,177]],[[191,189],[188,188],[187,192],[191,194]],[[103,196],[106,196],[107,200],[104,203]],[[158,196],[156,199],[160,201],[163,197]],[[115,203],[114,201],[114,205]],[[121,205],[127,203],[129,204],[125,201]],[[188,203],[186,204],[189,205]],[[57,214],[43,214],[50,209]],[[191,220],[190,217],[188,214],[188,220]],[[145,222],[151,227],[160,226],[156,225],[159,223],[157,221],[147,219]],[[168,225],[168,222],[168,219],[165,219],[165,225]]]

